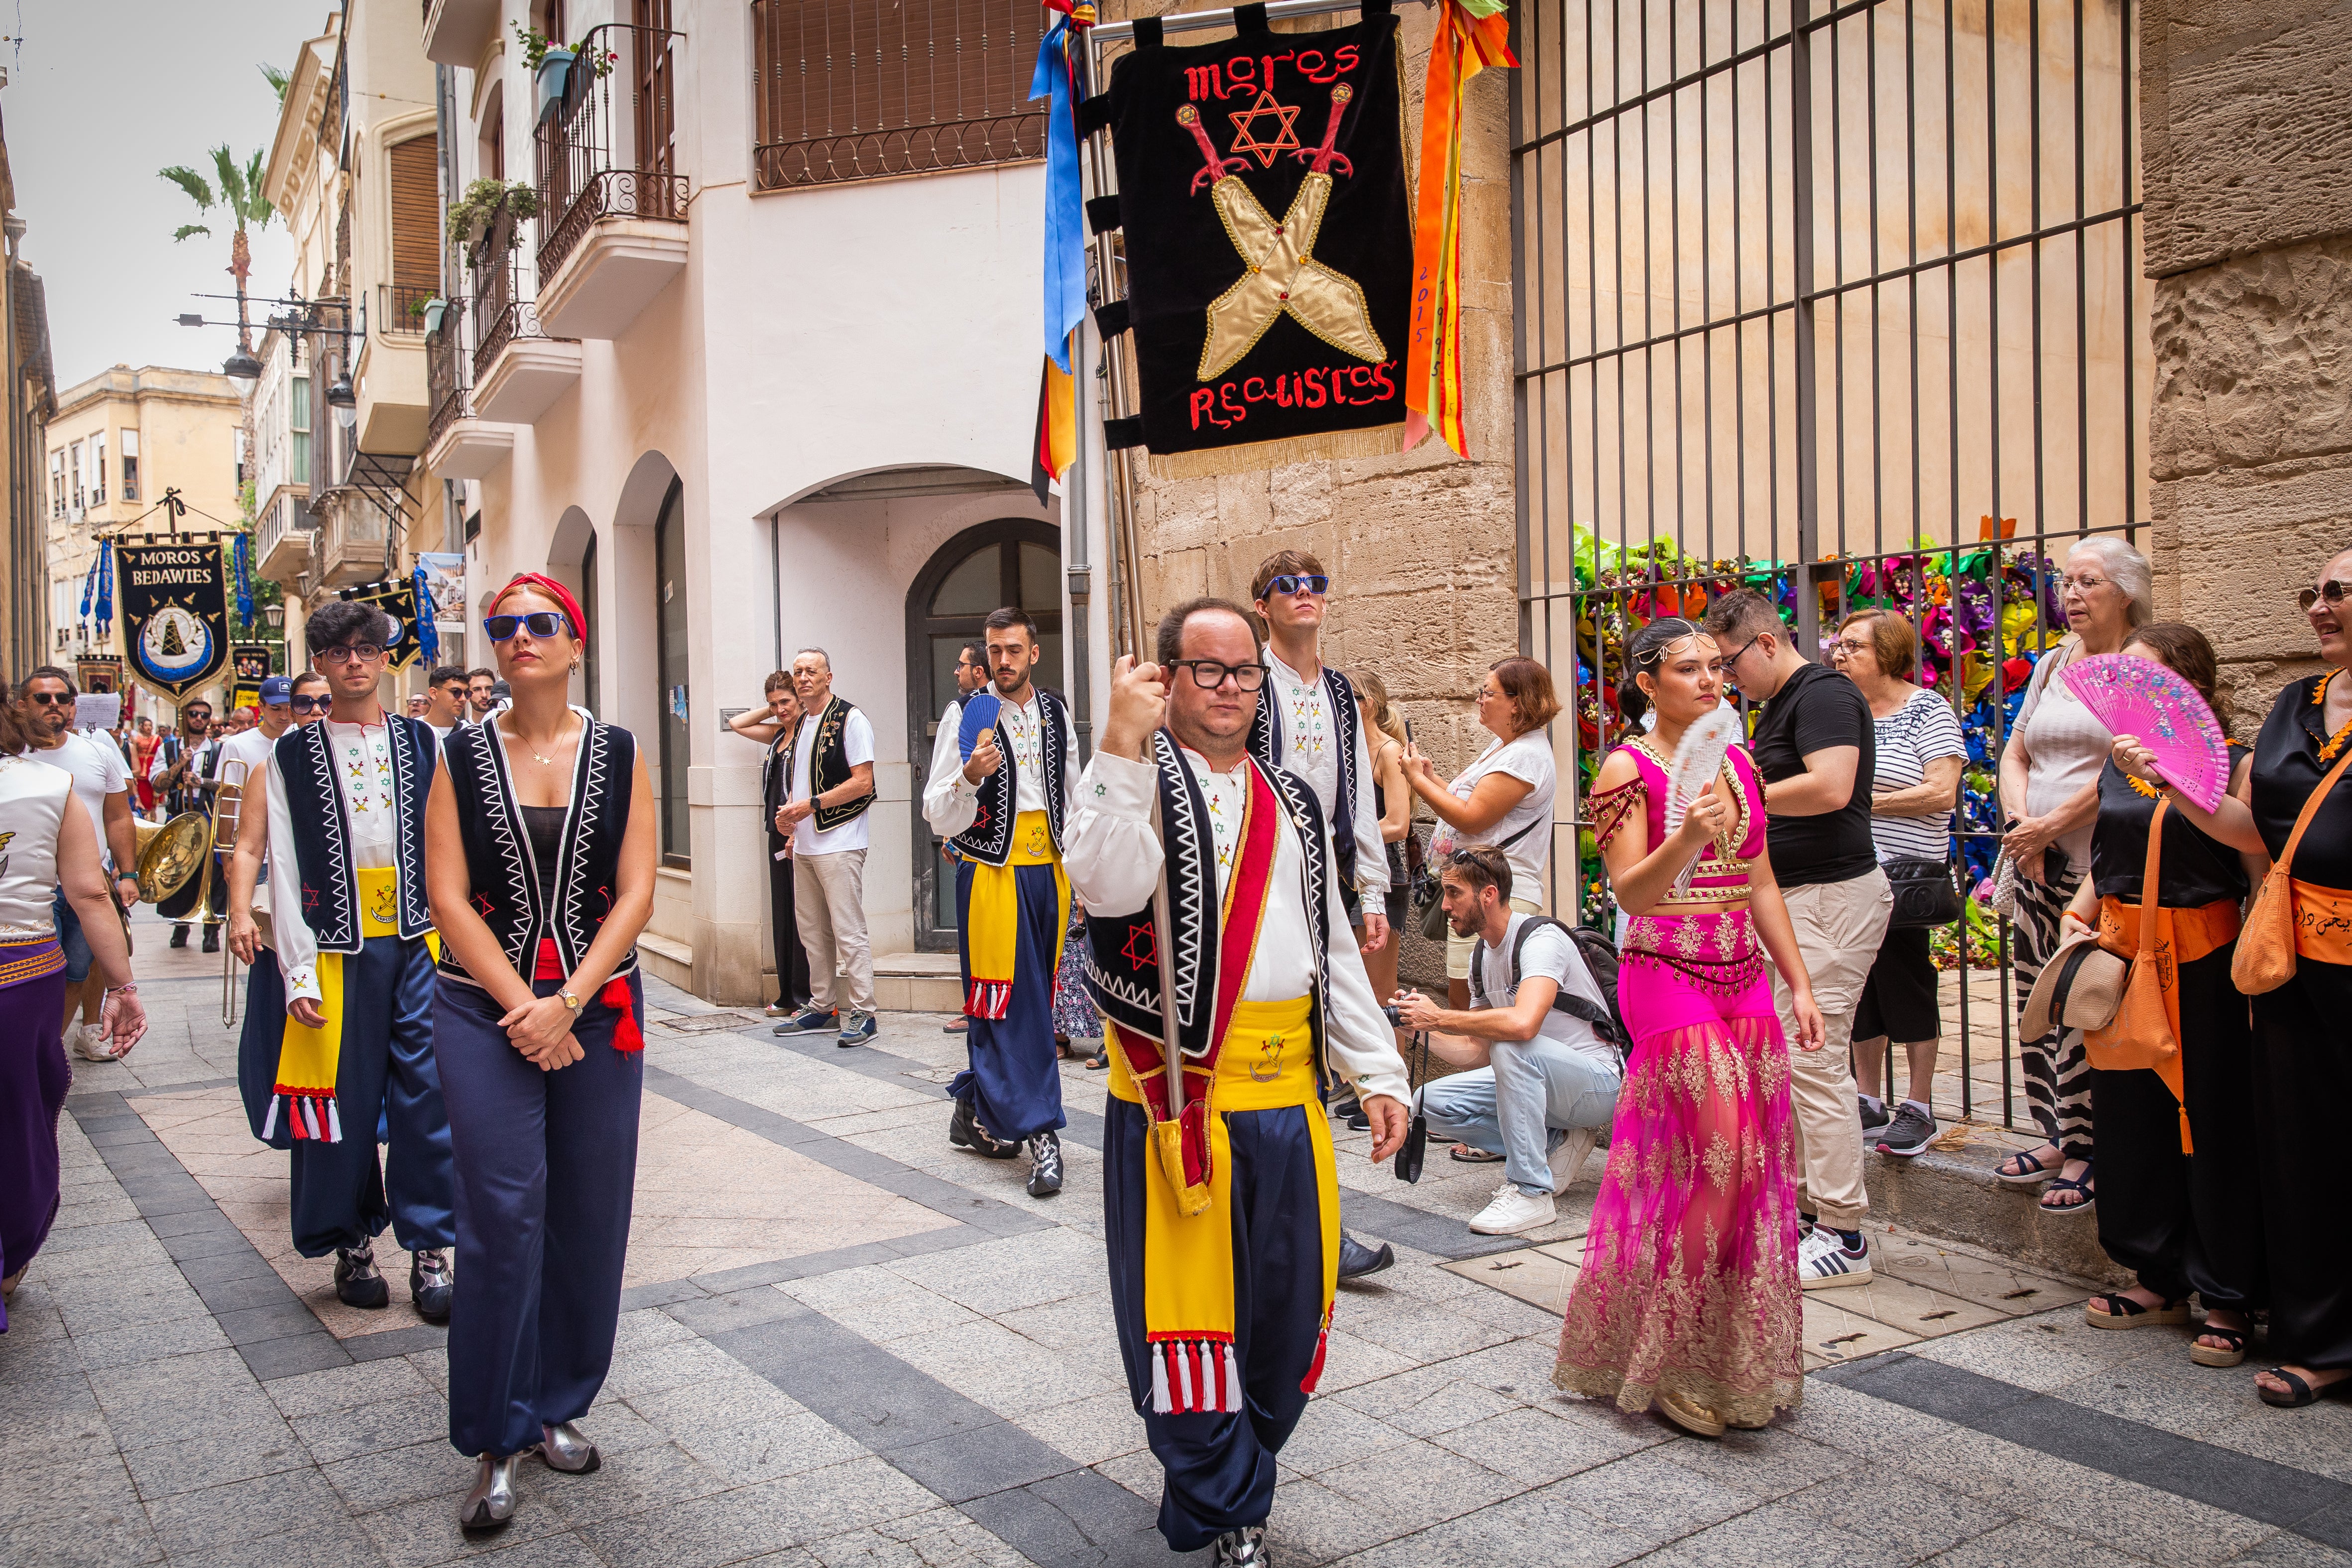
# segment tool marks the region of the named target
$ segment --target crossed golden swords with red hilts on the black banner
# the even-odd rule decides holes
[[[1331,167],[1355,174],[1345,153],[1334,153],[1338,120],[1355,89],[1341,82],[1331,89],[1331,120],[1324,125],[1322,146],[1294,153],[1308,165],[1308,179],[1291,197],[1291,209],[1275,223],[1258,197],[1242,183],[1240,169],[1247,158],[1221,158],[1202,129],[1200,110],[1190,103],[1176,110],[1176,125],[1192,132],[1207,167],[1192,174],[1192,193],[1209,186],[1209,200],[1225,221],[1225,237],[1242,252],[1242,280],[1216,296],[1209,306],[1209,339],[1200,348],[1200,378],[1216,381],[1232,369],[1242,355],[1258,346],[1275,317],[1289,315],[1317,339],[1350,353],[1357,360],[1378,364],[1388,357],[1381,334],[1371,329],[1371,306],[1364,289],[1352,277],[1315,261],[1315,233],[1322,214],[1331,205]]]

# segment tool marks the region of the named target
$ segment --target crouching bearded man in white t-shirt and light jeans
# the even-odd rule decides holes
[[[1501,849],[1456,849],[1439,865],[1439,886],[1446,924],[1477,938],[1470,1009],[1404,990],[1395,1016],[1428,1032],[1432,1056],[1470,1072],[1423,1088],[1421,1107],[1432,1135],[1503,1157],[1503,1185],[1470,1229],[1538,1229],[1616,1114],[1625,1065],[1597,1027],[1611,1009],[1569,929],[1510,907]]]

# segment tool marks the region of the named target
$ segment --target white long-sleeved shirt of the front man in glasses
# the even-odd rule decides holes
[[[1223,893],[1232,877],[1235,835],[1242,820],[1242,771],[1216,773],[1209,762],[1185,748],[1185,766],[1211,799],[1209,825],[1216,835],[1216,886]],[[1070,802],[1070,820],[1061,835],[1061,863],[1070,889],[1087,900],[1087,914],[1138,914],[1152,903],[1160,884],[1160,835],[1152,832],[1152,795],[1157,769],[1148,762],[1096,752]],[[1223,806],[1223,809],[1221,809]],[[1324,1046],[1331,1067],[1355,1084],[1359,1095],[1411,1098],[1397,1037],[1381,1016],[1364,976],[1364,959],[1348,940],[1338,898],[1338,872],[1324,856],[1324,900],[1331,910],[1331,990],[1324,997]],[[1308,936],[1305,853],[1284,825],[1275,832],[1275,872],[1265,893],[1265,922],[1258,950],[1242,983],[1242,1001],[1291,1001],[1315,990],[1315,945]]]

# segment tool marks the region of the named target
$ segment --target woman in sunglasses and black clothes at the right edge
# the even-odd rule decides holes
[[[2270,705],[2246,769],[2216,811],[2176,790],[2138,736],[2114,738],[2114,766],[2164,790],[2171,809],[2230,849],[2286,858],[2293,976],[2253,997],[2253,1124],[2260,1128],[2263,1251],[2270,1352],[2256,1373],[2263,1403],[2300,1408],[2352,1396],[2352,550],[2298,595],[2326,675],[2307,675]],[[2307,820],[2305,820],[2307,813]],[[2256,905],[2260,907],[2260,905]],[[2256,922],[2260,926],[2260,919]],[[2251,933],[2249,938],[2251,940]],[[2190,1112],[2194,1135],[2194,1105]],[[2211,1316],[2206,1331],[2211,1338]]]

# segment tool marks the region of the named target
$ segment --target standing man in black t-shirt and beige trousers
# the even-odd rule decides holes
[[[1863,1117],[1853,1091],[1853,1011],[1893,912],[1870,842],[1877,724],[1863,689],[1806,661],[1780,611],[1757,590],[1738,588],[1715,599],[1708,632],[1724,654],[1724,679],[1748,701],[1764,703],[1750,741],[1764,776],[1764,844],[1828,1025],[1820,1051],[1788,1053],[1797,1208],[1813,1218],[1797,1248],[1797,1279],[1806,1291],[1865,1284],[1870,1248],[1860,1227],[1870,1194],[1863,1192]],[[1771,990],[1780,1032],[1797,1039],[1778,969]]]

